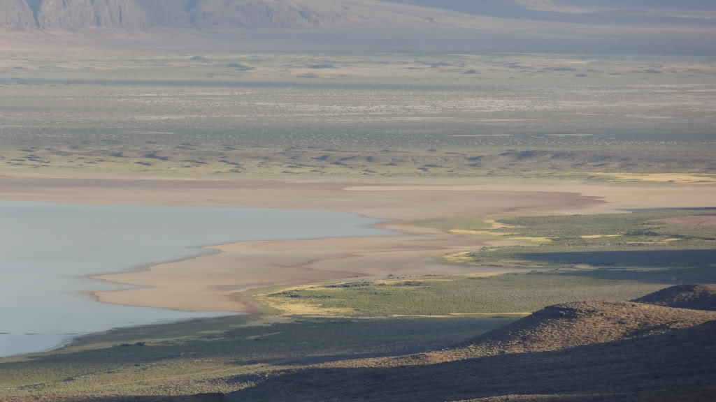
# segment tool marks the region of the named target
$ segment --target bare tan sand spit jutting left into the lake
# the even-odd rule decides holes
[[[239,242],[211,247],[223,252],[220,254],[154,265],[135,273],[101,275],[97,278],[150,288],[95,294],[109,303],[193,311],[217,308],[246,311],[251,306],[231,298],[233,293],[391,274],[472,272],[469,267],[441,265],[430,259],[431,255],[468,247],[474,250],[480,247],[480,242],[421,234]]]

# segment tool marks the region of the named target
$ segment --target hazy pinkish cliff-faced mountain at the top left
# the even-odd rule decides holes
[[[3,0],[2,25],[14,30],[306,29],[347,19],[331,1],[289,0]],[[336,1],[339,4],[341,1]]]

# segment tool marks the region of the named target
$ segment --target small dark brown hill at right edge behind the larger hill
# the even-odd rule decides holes
[[[716,285],[677,285],[632,301],[674,308],[716,311]]]

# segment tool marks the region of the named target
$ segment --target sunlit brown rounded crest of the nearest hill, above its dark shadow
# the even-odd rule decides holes
[[[643,338],[690,328],[716,313],[634,302],[584,301],[551,305],[455,348],[392,359],[362,361],[365,366],[432,364],[504,353],[561,350],[594,343]],[[346,366],[350,363],[337,363]]]

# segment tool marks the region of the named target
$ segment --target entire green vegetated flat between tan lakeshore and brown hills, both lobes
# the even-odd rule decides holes
[[[516,313],[574,300],[630,300],[668,285],[716,283],[715,222],[716,208],[470,221],[457,226],[501,239],[544,240],[483,247],[460,253],[458,261],[539,270],[343,283],[269,298],[357,316]]]

